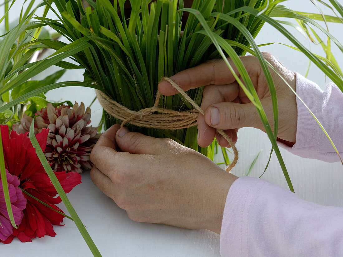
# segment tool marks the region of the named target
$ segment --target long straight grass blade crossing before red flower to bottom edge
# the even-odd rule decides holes
[[[82,221],[80,220],[78,214],[76,213],[74,207],[71,205],[66,193],[64,193],[60,182],[56,178],[54,171],[52,171],[42,149],[39,146],[39,143],[38,143],[38,141],[35,137],[35,133],[34,133],[34,120],[32,121],[31,126],[30,126],[29,137],[30,137],[30,140],[31,140],[33,147],[35,147],[35,149],[36,149],[36,153],[37,153],[37,156],[38,156],[40,162],[42,163],[47,175],[49,176],[49,178],[51,180],[51,183],[54,185],[54,187],[55,187],[57,193],[59,194],[59,196],[61,197],[64,205],[66,205],[66,208],[69,211],[69,214],[73,218],[73,220],[76,224],[76,227],[78,227],[83,239],[85,240],[86,244],[90,248],[92,254],[96,257],[101,256],[98,248],[95,246],[92,238],[90,237],[87,230],[85,229],[85,227],[84,227]]]

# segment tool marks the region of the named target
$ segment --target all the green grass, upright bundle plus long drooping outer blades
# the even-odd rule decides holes
[[[13,29],[9,30],[7,11],[2,18],[5,20],[7,29],[0,38],[0,94],[2,97],[0,118],[3,123],[8,123],[13,117],[20,119],[20,106],[27,99],[40,96],[48,90],[66,86],[95,88],[128,110],[139,112],[154,106],[157,84],[161,78],[172,76],[181,70],[215,58],[223,58],[228,69],[233,72],[233,67],[227,61],[227,57],[230,57],[239,72],[238,75],[235,72],[233,74],[249,100],[255,105],[267,131],[272,143],[271,154],[275,151],[287,184],[290,190],[294,191],[276,143],[278,104],[270,75],[270,69],[273,67],[264,59],[254,40],[263,24],[267,22],[279,30],[294,44],[289,47],[303,52],[310,62],[319,67],[343,91],[343,74],[331,55],[331,42],[342,52],[343,46],[329,33],[328,29],[315,21],[342,23],[343,8],[336,0],[329,0],[330,3],[318,1],[325,6],[330,6],[336,16],[295,12],[280,5],[283,2],[281,0],[194,0],[190,2],[182,0],[49,0],[33,7],[34,2],[35,0],[29,2],[29,8],[22,11],[20,22]],[[35,15],[38,7],[45,8],[43,15]],[[5,9],[9,9],[8,4],[5,5]],[[49,10],[57,16],[56,20],[47,16]],[[286,17],[296,21],[298,25],[277,21],[274,19],[276,17]],[[320,42],[326,57],[312,53],[282,24],[292,24],[291,26],[297,27],[311,40],[313,35]],[[40,37],[44,28],[56,31],[70,42],[64,43],[58,39]],[[320,39],[318,31],[328,38],[327,44]],[[30,61],[33,55],[42,49],[51,49],[54,53],[43,60]],[[247,52],[258,58],[267,79],[272,95],[274,131],[271,129],[247,70],[240,61],[239,56]],[[73,62],[66,61],[66,57]],[[33,76],[51,66],[63,69],[84,68],[84,81],[28,83]],[[202,88],[197,88],[187,92],[197,105],[201,104],[202,90]],[[161,97],[157,104],[160,108],[176,112],[191,112],[193,109],[193,106],[180,94]],[[134,118],[144,119],[144,115]],[[122,123],[123,120],[125,119],[114,118],[104,111],[105,129],[115,123]],[[317,118],[316,120],[319,123]],[[217,151],[215,141],[209,147],[198,146],[196,126],[173,130],[127,125],[131,130],[149,136],[171,138],[201,152],[212,160]],[[321,128],[324,130],[322,126]],[[327,133],[326,135],[329,138]],[[30,133],[30,138],[33,145],[37,144],[33,133]],[[338,153],[331,139],[330,141]],[[56,177],[53,176],[54,173],[44,155],[39,151],[39,146],[35,146],[47,174],[52,183],[55,182],[57,192],[66,204],[85,241],[92,253],[99,256],[82,222],[59,187],[58,181],[56,182]],[[226,151],[222,149],[225,164],[229,165],[230,160]],[[12,225],[15,227],[7,195],[8,188],[4,179],[5,173],[1,164],[0,158],[6,206]]]

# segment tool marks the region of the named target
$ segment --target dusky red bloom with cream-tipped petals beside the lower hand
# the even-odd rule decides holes
[[[47,104],[46,108],[36,113],[35,134],[44,128],[50,130],[45,156],[52,163],[54,171],[76,171],[91,169],[90,155],[99,138],[97,128],[87,126],[91,122],[91,109],[75,103],[59,107]],[[29,131],[32,118],[23,115],[20,125],[13,125],[18,133]]]

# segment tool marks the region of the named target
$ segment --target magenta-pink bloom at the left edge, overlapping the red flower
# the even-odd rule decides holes
[[[10,193],[10,201],[12,206],[12,212],[14,222],[19,225],[23,219],[23,209],[26,207],[26,198],[23,192],[18,188],[20,181],[18,177],[13,176],[6,170],[8,191]],[[2,180],[0,179],[0,241],[5,241],[10,235],[13,234],[13,226],[10,221],[10,217],[7,212],[5,203],[5,196],[3,193]]]

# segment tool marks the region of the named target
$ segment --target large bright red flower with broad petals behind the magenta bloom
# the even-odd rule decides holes
[[[43,129],[36,135],[37,141],[44,152],[49,131]],[[20,180],[20,188],[48,204],[55,210],[62,211],[55,204],[61,202],[56,189],[52,185],[42,164],[40,163],[34,147],[28,138],[28,133],[17,134],[8,126],[1,126],[2,144],[4,150],[5,167],[11,175]],[[81,175],[77,172],[55,172],[62,185],[64,192],[68,193],[75,185],[81,183]],[[17,236],[22,242],[31,242],[32,238],[45,235],[55,236],[53,224],[60,225],[64,216],[47,206],[39,203],[32,197],[24,194],[27,199],[26,208],[23,210],[24,217],[18,229],[13,229],[13,234],[3,243],[12,242]]]

